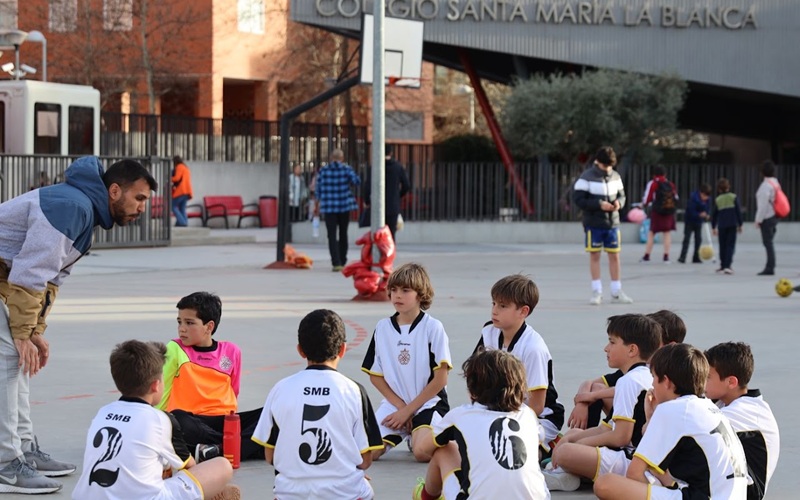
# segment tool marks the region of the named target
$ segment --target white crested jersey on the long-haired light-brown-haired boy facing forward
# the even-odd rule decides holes
[[[389,388],[408,404],[425,389],[433,379],[434,370],[443,363],[453,367],[444,326],[430,314],[420,312],[411,325],[398,325],[397,314],[380,320],[361,369],[383,377]],[[440,400],[447,404],[445,389],[425,402],[417,413],[433,408]]]

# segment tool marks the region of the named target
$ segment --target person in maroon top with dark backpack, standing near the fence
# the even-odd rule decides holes
[[[650,230],[647,232],[647,246],[641,262],[650,262],[650,252],[656,233],[664,233],[664,263],[669,264],[669,248],[672,244],[672,231],[675,230],[675,210],[678,195],[675,184],[667,179],[667,172],[661,165],[653,169],[653,178],[644,188],[642,206],[650,207]]]

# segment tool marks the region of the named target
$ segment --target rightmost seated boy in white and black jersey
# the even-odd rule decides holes
[[[761,500],[778,465],[780,433],[772,409],[758,389],[748,389],[753,353],[743,342],[725,342],[706,351],[710,365],[706,397],[716,400],[742,442],[753,484],[747,500]]]

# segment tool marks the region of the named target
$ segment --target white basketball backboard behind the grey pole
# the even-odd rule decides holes
[[[374,16],[365,14],[361,22],[361,83],[372,84],[374,54]],[[383,74],[396,87],[419,88],[422,78],[422,35],[424,23],[384,18]]]

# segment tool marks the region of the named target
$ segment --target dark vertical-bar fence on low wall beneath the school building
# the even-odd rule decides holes
[[[403,200],[402,212],[407,220],[580,220],[580,211],[572,203],[572,186],[586,168],[582,165],[517,165],[520,182],[533,205],[533,214],[529,216],[523,212],[502,164],[412,161],[406,168],[413,185],[410,196]],[[715,192],[717,180],[726,177],[731,182],[732,192],[739,196],[745,219],[753,220],[755,192],[762,181],[758,165],[665,165],[665,168],[681,198],[679,208],[685,208],[689,194],[701,183],[710,184]],[[628,203],[623,214],[631,204],[641,201],[651,172],[650,166],[621,168]],[[797,200],[800,166],[781,166],[777,175],[789,199]],[[798,208],[795,207],[788,220],[800,220]]]

